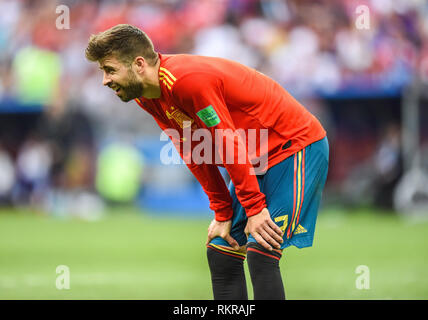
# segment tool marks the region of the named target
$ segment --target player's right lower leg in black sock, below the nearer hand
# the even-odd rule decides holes
[[[247,245],[247,261],[254,300],[285,300],[279,260],[281,253],[268,251],[258,243]]]

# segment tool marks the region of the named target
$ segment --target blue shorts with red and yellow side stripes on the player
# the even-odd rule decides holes
[[[329,147],[327,137],[316,141],[257,176],[260,191],[266,195],[267,208],[273,221],[284,232],[281,249],[312,246],[322,191],[328,172]],[[243,246],[256,242],[244,229],[245,209],[230,183],[233,199],[231,236]],[[223,238],[211,241],[214,245],[230,246]]]

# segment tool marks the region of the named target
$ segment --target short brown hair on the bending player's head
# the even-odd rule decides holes
[[[91,35],[85,55],[89,61],[114,56],[124,63],[131,63],[135,57],[142,56],[150,64],[155,64],[158,57],[146,33],[129,24],[118,24]]]

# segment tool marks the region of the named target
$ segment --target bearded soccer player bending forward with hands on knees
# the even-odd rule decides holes
[[[221,58],[157,53],[131,25],[92,35],[86,57],[99,63],[105,86],[124,102],[136,101],[168,132],[208,195],[215,213],[206,243],[214,299],[248,299],[245,258],[254,298],[285,299],[282,251],[312,246],[327,176],[328,142],[319,121],[256,70]],[[244,139],[242,132],[250,137],[251,130],[256,138]],[[195,159],[202,136],[211,148]],[[217,165],[226,168],[229,188]]]

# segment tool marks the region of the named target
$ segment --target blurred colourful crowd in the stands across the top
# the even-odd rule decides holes
[[[63,5],[69,24],[58,29]],[[358,27],[361,6],[367,29]],[[103,101],[93,93],[100,92],[99,77],[83,56],[88,36],[118,23],[143,29],[160,52],[238,60],[301,95],[381,91],[428,64],[424,0],[2,0],[0,21],[2,95],[19,94],[22,60],[31,56],[50,70],[44,77],[50,87],[60,79],[61,99],[88,105]]]

